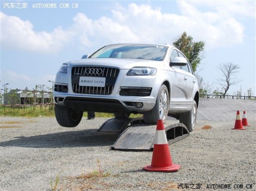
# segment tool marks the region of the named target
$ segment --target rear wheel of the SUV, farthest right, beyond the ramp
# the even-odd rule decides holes
[[[179,116],[179,122],[183,123],[189,130],[189,132],[193,131],[195,126],[195,121],[197,120],[197,103],[193,101],[192,109],[184,114]]]

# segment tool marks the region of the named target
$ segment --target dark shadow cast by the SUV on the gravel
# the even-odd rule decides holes
[[[1,142],[2,147],[64,148],[111,146],[119,133],[98,132],[97,129],[66,131],[35,136],[18,136]]]

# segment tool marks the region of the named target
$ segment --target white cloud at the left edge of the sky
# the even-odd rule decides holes
[[[61,49],[69,41],[69,32],[61,27],[55,28],[51,33],[34,31],[33,24],[22,21],[17,16],[1,14],[2,47],[25,49],[43,53],[53,53]]]

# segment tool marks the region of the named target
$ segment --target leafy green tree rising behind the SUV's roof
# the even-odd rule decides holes
[[[203,59],[202,51],[204,50],[205,42],[193,42],[193,38],[183,32],[182,36],[173,42],[173,45],[185,54],[195,72]]]

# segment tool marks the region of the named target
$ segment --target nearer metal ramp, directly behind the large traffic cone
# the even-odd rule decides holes
[[[166,121],[164,124],[168,144],[173,144],[189,136],[187,127],[182,124],[171,124],[173,121]],[[113,144],[113,150],[125,151],[152,151],[156,134],[156,125],[135,124],[128,127]]]

